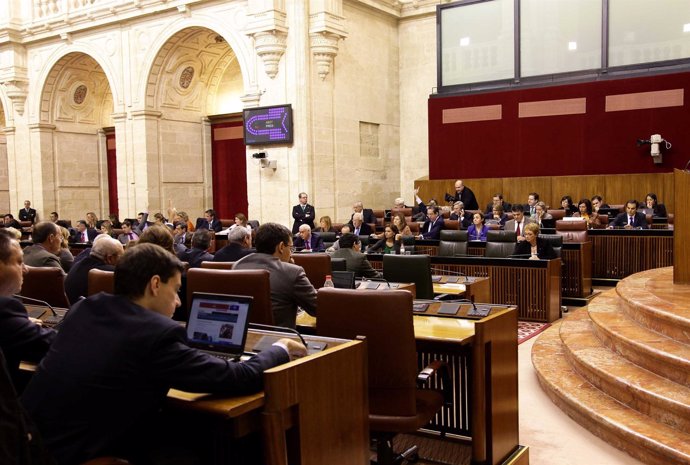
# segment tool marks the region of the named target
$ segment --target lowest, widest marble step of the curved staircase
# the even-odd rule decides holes
[[[559,329],[556,323],[544,331],[532,348],[539,382],[553,402],[596,436],[647,464],[690,463],[690,435],[621,404],[580,376],[566,359]]]

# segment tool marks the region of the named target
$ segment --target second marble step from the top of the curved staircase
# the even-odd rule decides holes
[[[634,364],[690,387],[690,345],[639,325],[620,307],[616,289],[602,293],[587,306],[596,336]]]

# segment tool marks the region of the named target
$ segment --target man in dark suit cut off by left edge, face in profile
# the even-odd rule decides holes
[[[24,305],[12,298],[22,288],[24,271],[19,242],[7,231],[0,231],[0,350],[5,354],[15,384],[19,362],[39,361],[55,337],[55,331],[36,324]]]

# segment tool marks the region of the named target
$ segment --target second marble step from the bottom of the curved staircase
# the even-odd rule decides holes
[[[605,347],[592,332],[587,309],[578,309],[563,321],[560,338],[570,365],[597,389],[660,423],[690,431],[690,388]]]

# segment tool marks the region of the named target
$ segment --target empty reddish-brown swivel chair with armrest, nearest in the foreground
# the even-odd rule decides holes
[[[361,292],[324,288],[319,290],[317,302],[316,331],[320,336],[366,337],[369,429],[377,438],[377,463],[401,463],[401,457],[395,457],[391,447],[393,437],[429,423],[444,402],[439,391],[417,387],[412,294],[402,290]],[[448,378],[442,380],[445,392],[450,383]],[[414,454],[415,447],[403,456]]]

